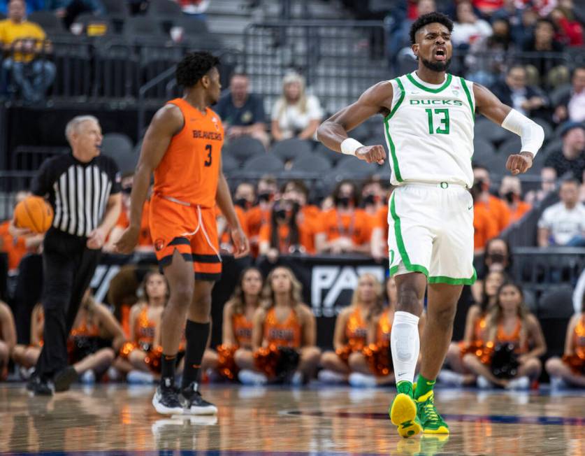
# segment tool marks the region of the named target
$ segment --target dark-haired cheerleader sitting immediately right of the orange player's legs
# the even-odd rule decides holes
[[[219,374],[222,378],[237,378],[240,365],[254,364],[252,352],[252,327],[254,313],[260,305],[263,287],[262,273],[250,267],[240,274],[238,283],[229,301],[224,306],[222,323],[222,345],[217,351],[208,348],[203,355],[204,372]],[[210,378],[213,374],[210,375]]]

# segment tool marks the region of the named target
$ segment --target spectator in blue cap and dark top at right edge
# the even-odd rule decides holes
[[[562,148],[552,151],[544,160],[544,166],[554,169],[559,178],[570,174],[582,182],[585,171],[585,124],[566,122],[560,134],[563,137]]]

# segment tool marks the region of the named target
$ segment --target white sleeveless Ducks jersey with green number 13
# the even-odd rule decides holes
[[[384,119],[392,185],[456,183],[471,187],[473,84],[447,74],[424,83],[412,72],[391,80],[393,101]]]

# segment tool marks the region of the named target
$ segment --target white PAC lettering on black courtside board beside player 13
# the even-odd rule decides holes
[[[311,304],[315,317],[335,317],[349,306],[363,273],[384,282],[383,266],[315,266],[311,276]]]

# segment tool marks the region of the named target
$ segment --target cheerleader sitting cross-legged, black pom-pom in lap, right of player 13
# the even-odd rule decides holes
[[[480,388],[493,385],[509,390],[526,389],[540,376],[544,342],[540,323],[523,301],[521,288],[511,282],[498,290],[498,299],[487,319],[486,349],[491,356],[480,359],[468,353],[463,365],[477,376]]]

